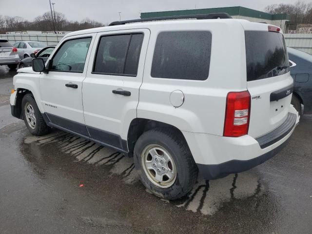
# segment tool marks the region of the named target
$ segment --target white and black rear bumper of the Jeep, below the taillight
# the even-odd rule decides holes
[[[183,132],[204,179],[217,179],[231,173],[247,171],[276,155],[287,144],[299,122],[298,113],[291,108],[286,121],[265,136],[254,139],[220,137]]]

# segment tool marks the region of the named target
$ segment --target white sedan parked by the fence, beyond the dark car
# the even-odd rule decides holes
[[[18,49],[20,59],[25,59],[32,53],[37,54],[39,50],[47,46],[44,42],[32,40],[17,41],[13,45]]]

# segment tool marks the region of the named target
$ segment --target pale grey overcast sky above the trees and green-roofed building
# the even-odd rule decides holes
[[[268,4],[291,3],[292,0],[51,0],[55,11],[63,13],[68,20],[89,18],[102,23],[137,19],[140,12],[201,9],[226,6],[244,6],[262,11]],[[0,0],[0,15],[20,16],[33,20],[50,11],[49,0]]]

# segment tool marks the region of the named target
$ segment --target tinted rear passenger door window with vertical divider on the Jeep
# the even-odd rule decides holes
[[[93,72],[136,76],[142,41],[143,34],[101,37]]]

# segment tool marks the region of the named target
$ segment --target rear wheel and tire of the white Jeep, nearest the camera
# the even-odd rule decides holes
[[[137,140],[134,162],[143,185],[154,195],[175,200],[193,188],[198,169],[183,135],[152,129]]]

